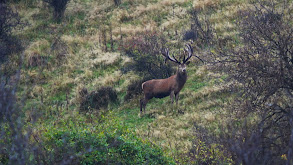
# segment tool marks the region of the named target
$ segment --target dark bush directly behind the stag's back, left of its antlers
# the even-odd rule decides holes
[[[157,32],[145,32],[125,41],[122,50],[132,58],[134,63],[123,68],[124,72],[134,70],[140,75],[150,78],[167,78],[172,75],[170,64],[165,64],[161,57],[161,49],[165,45],[164,36]]]

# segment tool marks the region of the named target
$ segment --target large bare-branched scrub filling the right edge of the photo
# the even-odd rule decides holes
[[[236,128],[227,141],[237,164],[293,162],[293,29],[288,3],[261,1],[240,11],[241,45],[217,52],[217,68],[229,74],[239,96],[231,111],[252,122],[248,127],[239,125],[243,120],[230,122]]]

